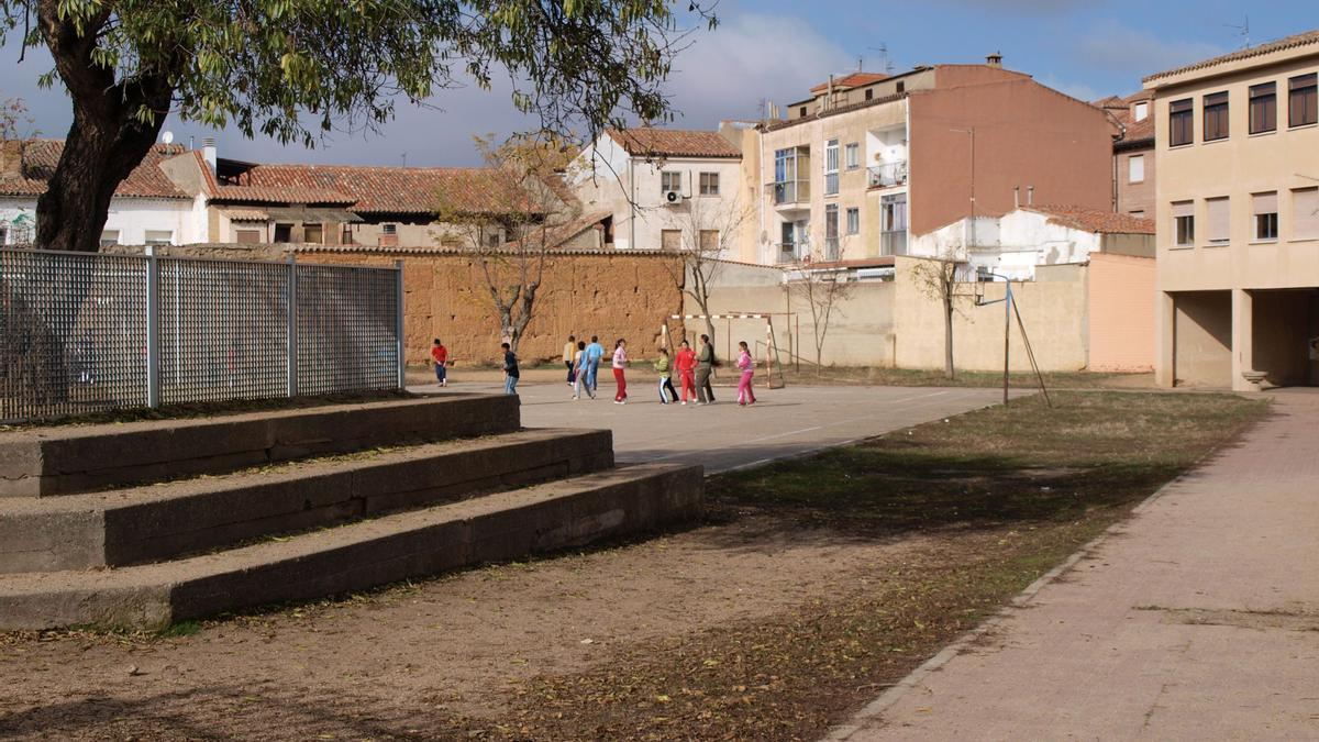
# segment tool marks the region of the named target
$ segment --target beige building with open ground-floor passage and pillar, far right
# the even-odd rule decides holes
[[[1319,30],[1145,79],[1162,386],[1319,383]]]

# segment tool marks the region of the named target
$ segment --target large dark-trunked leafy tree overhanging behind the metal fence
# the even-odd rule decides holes
[[[543,129],[595,136],[671,115],[662,83],[685,37],[656,0],[0,0],[0,21],[50,50],[41,82],[73,100],[37,240],[80,251],[171,112],[311,147],[336,123],[379,127],[396,96],[488,88],[504,70]]]

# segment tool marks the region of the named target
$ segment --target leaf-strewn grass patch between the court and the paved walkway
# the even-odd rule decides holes
[[[1066,392],[708,482],[715,518],[921,536],[786,614],[619,650],[514,685],[492,738],[803,739],[897,683],[1268,412],[1232,395]]]

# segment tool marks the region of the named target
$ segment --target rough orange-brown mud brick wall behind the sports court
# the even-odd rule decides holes
[[[456,253],[336,248],[298,250],[299,263],[393,265],[404,261],[408,363],[422,364],[441,338],[459,364],[495,363],[500,323],[479,260]],[[600,337],[607,349],[627,338],[629,355],[653,358],[660,326],[682,313],[681,259],[627,252],[567,252],[546,260],[532,323],[518,356],[558,360],[570,334]]]

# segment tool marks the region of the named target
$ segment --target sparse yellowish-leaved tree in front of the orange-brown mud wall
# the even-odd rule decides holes
[[[555,137],[510,137],[493,145],[477,139],[488,172],[484,209],[463,210],[460,193],[439,193],[438,220],[458,235],[481,271],[500,337],[513,353],[536,316],[536,298],[550,252],[568,239],[580,217],[575,199],[562,194],[562,170],[575,149]]]

